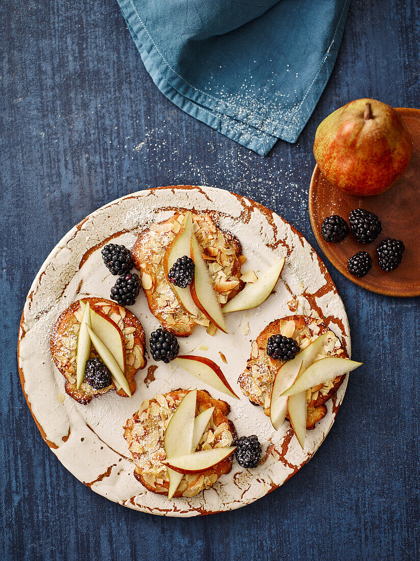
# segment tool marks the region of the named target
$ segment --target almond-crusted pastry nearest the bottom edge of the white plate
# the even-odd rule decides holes
[[[168,470],[162,463],[167,457],[164,447],[165,431],[188,391],[178,389],[146,399],[124,426],[124,438],[136,466],[134,476],[153,493],[168,494]],[[205,390],[197,390],[196,415],[210,407],[215,407],[215,410],[196,451],[228,447],[236,437],[232,421],[227,419],[229,404],[214,399]],[[194,496],[203,489],[210,488],[221,475],[229,473],[231,469],[232,457],[228,457],[204,473],[183,475],[174,496]]]

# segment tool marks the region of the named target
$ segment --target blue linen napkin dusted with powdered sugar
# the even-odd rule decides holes
[[[350,0],[118,0],[146,70],[183,111],[265,156],[296,142]]]

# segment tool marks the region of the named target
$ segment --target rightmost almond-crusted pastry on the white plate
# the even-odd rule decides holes
[[[340,340],[328,329],[320,319],[310,316],[293,315],[286,318],[271,321],[262,330],[255,341],[251,344],[251,356],[248,359],[246,369],[239,376],[238,384],[242,393],[247,396],[252,403],[264,407],[264,413],[270,416],[271,390],[273,389],[274,378],[279,368],[284,364],[280,360],[273,360],[266,352],[267,341],[271,335],[284,335],[292,337],[297,341],[299,350],[306,348],[312,341],[320,335],[330,333],[330,337],[317,355],[315,360],[325,357],[348,358]],[[313,429],[315,423],[326,415],[325,402],[336,393],[344,376],[337,376],[326,384],[310,388],[306,393],[307,409],[307,428]]]

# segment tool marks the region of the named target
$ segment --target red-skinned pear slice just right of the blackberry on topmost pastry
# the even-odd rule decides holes
[[[228,332],[221,306],[216,296],[213,280],[211,280],[207,264],[201,255],[201,247],[195,235],[191,237],[191,259],[195,264],[194,278],[190,284],[193,301],[206,318],[221,331]]]

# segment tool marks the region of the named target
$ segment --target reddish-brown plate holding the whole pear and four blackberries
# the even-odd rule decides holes
[[[318,165],[313,170],[309,188],[309,213],[312,229],[322,251],[335,266],[358,286],[387,296],[420,295],[420,251],[417,226],[420,223],[420,109],[397,108],[413,140],[413,157],[404,175],[389,190],[372,197],[348,195],[333,187],[322,176]],[[350,211],[363,208],[375,213],[382,222],[382,232],[375,242],[358,243],[351,234],[340,243],[327,243],[321,236],[322,220],[339,214],[348,220]],[[386,273],[379,268],[376,247],[384,238],[403,240],[405,251],[398,268]],[[366,277],[350,275],[347,261],[357,251],[367,251],[373,266]]]

